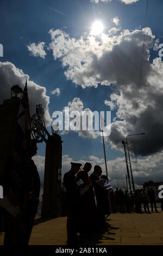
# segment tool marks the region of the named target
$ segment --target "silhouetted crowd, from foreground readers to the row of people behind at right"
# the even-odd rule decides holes
[[[142,205],[144,212],[150,214],[153,206],[156,208],[155,192],[152,187],[147,192],[145,188],[136,189],[134,192],[107,186],[108,177],[102,175],[102,169],[96,165],[93,173],[89,176],[91,163],[71,163],[71,170],[64,175],[63,191],[66,194],[67,215],[67,244],[78,243],[78,237],[88,237],[94,232],[99,232],[107,227],[105,217],[111,213],[131,211],[141,213]],[[63,205],[62,205],[63,206]],[[62,208],[63,209],[63,208]],[[65,208],[64,208],[65,209]],[[80,236],[77,236],[77,233]]]

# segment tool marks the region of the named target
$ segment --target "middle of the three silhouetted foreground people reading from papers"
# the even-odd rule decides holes
[[[84,191],[81,197],[80,206],[80,236],[87,237],[95,231],[97,225],[97,203],[95,190],[91,184],[88,172],[91,170],[91,163],[86,162],[84,168],[77,173],[77,180],[82,180],[80,188]]]

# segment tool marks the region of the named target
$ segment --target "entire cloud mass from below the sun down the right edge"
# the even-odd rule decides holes
[[[139,108],[134,127],[144,31],[145,29],[124,30],[119,35],[103,34],[98,39],[84,34],[78,40],[59,30],[49,32],[52,36],[50,47],[54,59],[59,58],[64,68],[67,68],[67,79],[83,88],[97,87],[99,83],[116,85],[119,93],[111,94],[110,99],[104,99],[111,109],[118,109],[118,119],[115,118],[111,125],[108,141],[111,147],[121,149],[122,139],[133,132],[134,128],[135,133],[146,132],[146,136],[133,138],[138,155],[148,155],[163,147],[160,110],[163,107],[163,64],[161,58],[154,59],[153,63],[149,62],[149,48],[153,47],[155,38],[150,28],[146,28]]]

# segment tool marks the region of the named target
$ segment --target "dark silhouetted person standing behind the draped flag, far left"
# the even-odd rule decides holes
[[[20,216],[5,214],[4,245],[28,245],[37,213],[40,196],[40,177],[32,157],[37,153],[35,139],[31,140],[30,156],[24,162],[22,170],[22,202]]]

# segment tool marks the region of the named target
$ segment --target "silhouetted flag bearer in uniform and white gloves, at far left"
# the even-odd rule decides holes
[[[30,155],[23,162],[21,172],[21,195],[16,198],[10,190],[10,172],[5,175],[5,197],[8,208],[4,212],[4,245],[28,245],[34,224],[40,195],[40,177],[32,157],[37,153],[35,139],[31,140]],[[8,166],[8,168],[10,168]],[[8,169],[9,170],[9,169]],[[11,203],[12,202],[12,203]]]

